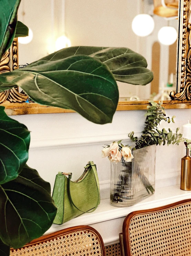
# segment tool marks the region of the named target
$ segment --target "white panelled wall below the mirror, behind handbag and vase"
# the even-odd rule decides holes
[[[83,173],[89,160],[97,164],[102,198],[109,196],[110,162],[101,158],[102,146],[115,140],[128,140],[134,131],[140,136],[144,129],[145,111],[117,111],[111,124],[93,124],[77,113],[38,114],[11,116],[27,125],[31,132],[28,165],[50,182],[53,188],[58,171],[71,171],[73,180]],[[167,110],[176,115],[175,124],[163,123],[161,128],[177,127],[191,120],[190,109]],[[181,131],[181,130],[180,130]],[[185,155],[184,144],[157,147],[156,185],[164,187],[180,182],[181,158]],[[103,191],[107,189],[107,193]]]

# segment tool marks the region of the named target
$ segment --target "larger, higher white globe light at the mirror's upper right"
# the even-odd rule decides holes
[[[138,36],[148,36],[154,30],[154,20],[149,14],[139,14],[132,21],[132,30]]]

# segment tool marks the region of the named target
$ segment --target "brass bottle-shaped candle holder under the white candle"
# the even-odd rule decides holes
[[[188,143],[184,142],[187,155],[181,160],[181,184],[180,189],[185,191],[191,190],[191,157],[189,156]]]

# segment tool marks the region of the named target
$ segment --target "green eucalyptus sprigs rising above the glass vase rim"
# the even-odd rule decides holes
[[[159,101],[159,103],[156,103],[154,101],[150,101],[151,105],[147,106],[147,113],[146,121],[145,121],[145,128],[144,131],[142,131],[141,139],[138,140],[137,137],[134,137],[134,132],[129,133],[130,139],[135,142],[135,148],[134,149],[140,149],[144,148],[153,144],[156,145],[165,145],[166,143],[168,145],[177,144],[179,145],[180,142],[185,141],[184,138],[182,138],[182,134],[178,133],[179,128],[177,128],[176,133],[172,133],[172,130],[169,128],[169,131],[166,131],[165,128],[160,131],[158,129],[158,125],[162,120],[170,123],[171,121],[174,123],[173,116],[171,119],[170,117],[166,117],[164,107],[162,107],[162,103]]]

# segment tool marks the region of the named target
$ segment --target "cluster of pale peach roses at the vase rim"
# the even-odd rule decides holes
[[[129,145],[123,145],[121,141],[114,141],[102,150],[102,158],[108,157],[111,162],[117,164],[123,158],[126,162],[131,162],[134,158]]]

